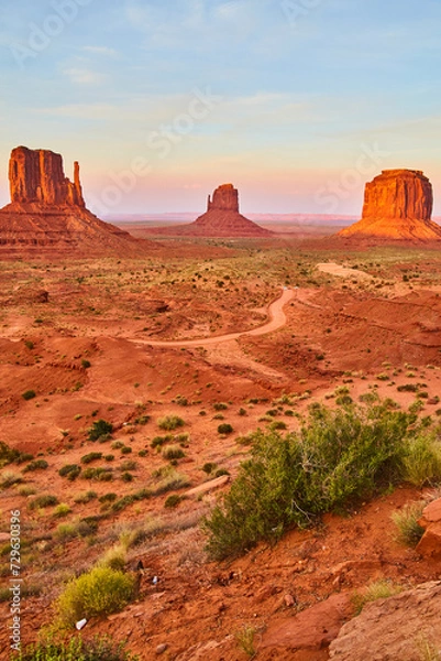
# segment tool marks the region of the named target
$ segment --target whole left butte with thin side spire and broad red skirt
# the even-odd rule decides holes
[[[9,161],[11,203],[0,209],[0,250],[4,252],[84,251],[135,254],[137,241],[103,223],[86,208],[74,164],[74,182],[63,170],[63,158],[48,150],[18,147]]]

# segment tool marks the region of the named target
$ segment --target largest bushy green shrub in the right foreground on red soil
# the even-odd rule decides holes
[[[414,422],[414,415],[381,404],[335,411],[319,404],[310,408],[299,432],[282,437],[258,431],[252,458],[203,521],[209,554],[241,554],[398,481],[405,435]]]

